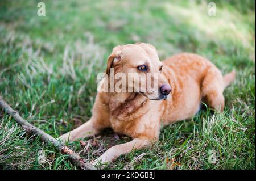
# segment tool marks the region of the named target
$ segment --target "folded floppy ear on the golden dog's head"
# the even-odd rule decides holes
[[[118,64],[118,62],[121,61],[121,52],[122,52],[122,47],[120,45],[113,48],[112,54],[110,54],[108,58],[108,64],[106,68],[107,75],[109,75],[110,73],[110,68],[112,68],[114,64]]]

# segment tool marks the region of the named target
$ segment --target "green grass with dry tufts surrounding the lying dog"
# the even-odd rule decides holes
[[[217,16],[207,15],[207,1],[43,1],[46,16],[36,15],[38,2],[0,2],[0,94],[24,119],[53,137],[84,123],[112,48],[143,41],[160,60],[198,53],[237,78],[224,92],[224,113],[206,108],[164,127],[151,148],[107,169],[255,169],[255,1],[215,1]],[[76,169],[0,113],[0,169]],[[91,161],[129,140],[107,129],[83,140],[88,146],[69,146]],[[46,163],[38,162],[39,150]]]

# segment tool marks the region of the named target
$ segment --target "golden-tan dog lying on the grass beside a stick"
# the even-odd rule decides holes
[[[92,117],[60,137],[62,141],[74,141],[112,128],[116,133],[133,138],[108,149],[92,162],[93,165],[113,162],[122,154],[149,146],[159,139],[161,125],[191,118],[200,110],[201,101],[222,112],[223,91],[235,79],[235,71],[222,76],[212,62],[197,54],[181,53],[161,62],[155,47],[147,43],[113,48],[106,75],[110,74],[110,69],[114,69],[114,74],[154,73],[157,76],[147,77],[146,81],[135,77],[135,81],[146,88],[144,92],[136,87],[131,87],[132,92],[98,92]],[[158,82],[153,89],[146,86],[150,79]],[[104,81],[108,82],[109,76]]]

